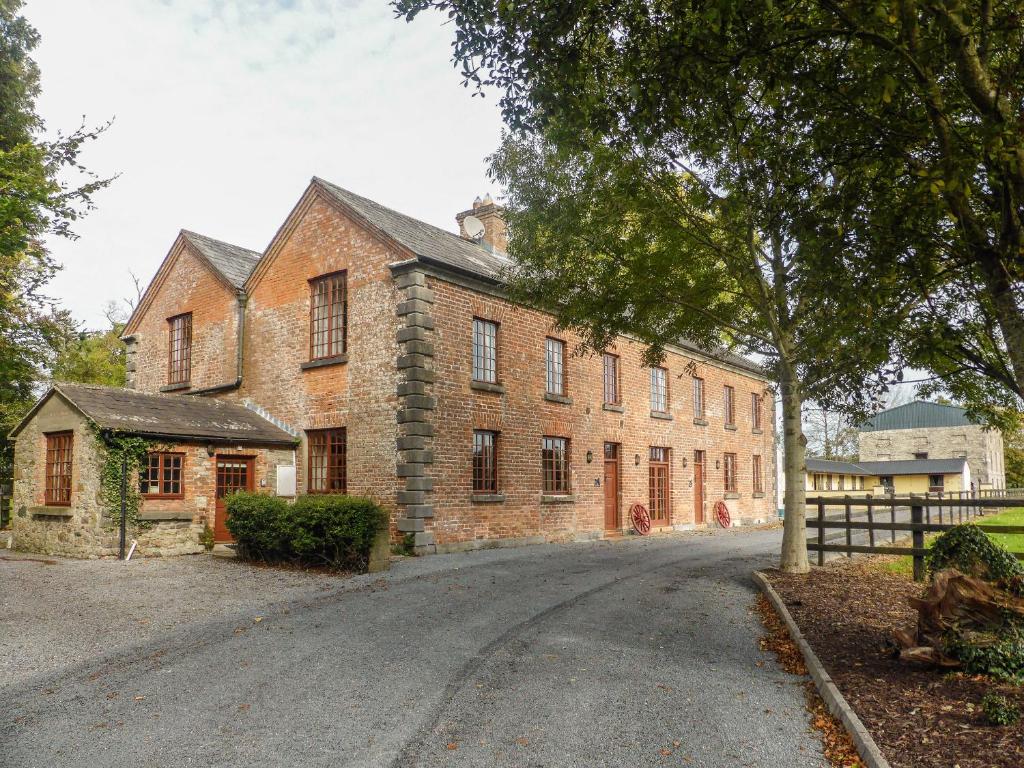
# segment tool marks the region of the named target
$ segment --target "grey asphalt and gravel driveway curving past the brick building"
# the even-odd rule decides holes
[[[751,612],[780,536],[348,580],[0,555],[0,765],[819,766]]]

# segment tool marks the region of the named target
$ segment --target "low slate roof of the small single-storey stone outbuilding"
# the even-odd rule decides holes
[[[293,445],[295,438],[244,406],[187,394],[151,394],[90,384],[56,383],[11,432],[22,431],[53,395],[62,397],[97,427],[182,441]]]

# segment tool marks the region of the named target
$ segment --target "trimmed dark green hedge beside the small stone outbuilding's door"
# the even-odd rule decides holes
[[[227,529],[242,557],[365,570],[387,513],[358,496],[300,496],[294,504],[262,494],[225,500]]]

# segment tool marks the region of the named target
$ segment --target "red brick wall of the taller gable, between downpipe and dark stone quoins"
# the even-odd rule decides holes
[[[394,509],[395,294],[387,264],[407,256],[329,202],[310,196],[293,213],[272,261],[257,275],[246,318],[242,389],[298,430],[346,427],[348,489]],[[347,270],[347,362],[303,370],[309,359],[309,284]],[[298,451],[306,485],[306,442]]]

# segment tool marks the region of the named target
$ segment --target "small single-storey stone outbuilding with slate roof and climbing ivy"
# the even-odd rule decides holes
[[[139,555],[200,552],[206,526],[229,539],[223,498],[295,495],[296,438],[245,406],[83,384],[54,385],[11,432],[16,549],[116,556],[120,509],[100,493],[112,435],[151,444],[130,538]]]

